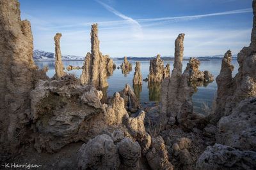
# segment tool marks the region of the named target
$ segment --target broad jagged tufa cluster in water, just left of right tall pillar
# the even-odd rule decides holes
[[[155,59],[150,60],[148,83],[161,83],[166,77],[170,77],[170,64],[164,67],[164,61],[157,54]]]

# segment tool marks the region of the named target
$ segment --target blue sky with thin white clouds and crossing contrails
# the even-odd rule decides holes
[[[34,49],[85,56],[98,23],[100,52],[111,57],[174,55],[185,34],[184,55],[236,55],[250,44],[252,0],[19,0],[22,20],[31,22]]]

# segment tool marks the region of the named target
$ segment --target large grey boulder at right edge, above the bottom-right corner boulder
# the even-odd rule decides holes
[[[231,115],[218,123],[216,142],[256,152],[256,97],[241,101]]]

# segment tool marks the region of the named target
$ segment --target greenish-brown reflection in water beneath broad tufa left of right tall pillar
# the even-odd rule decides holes
[[[160,101],[161,83],[148,83],[149,101]]]

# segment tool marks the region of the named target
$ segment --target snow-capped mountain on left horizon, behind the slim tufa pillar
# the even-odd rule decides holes
[[[55,60],[54,53],[45,52],[43,50],[34,50],[33,59],[40,60]],[[62,60],[84,60],[84,57],[76,55],[62,55]]]

